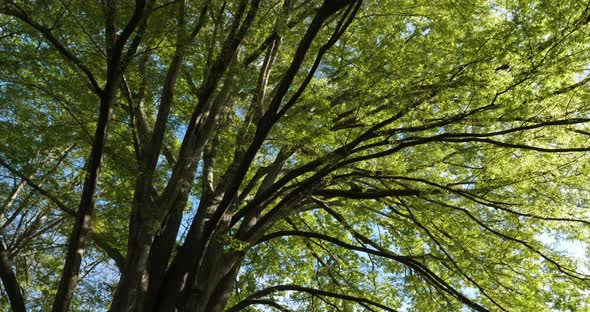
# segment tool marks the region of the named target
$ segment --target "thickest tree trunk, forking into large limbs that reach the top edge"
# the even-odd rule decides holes
[[[120,282],[119,293],[113,302],[113,311],[223,310],[233,290],[239,263],[243,257],[241,252],[225,250],[228,246],[223,243],[231,222],[232,204],[237,199],[239,187],[266,135],[280,114],[284,114],[288,108],[279,113],[282,100],[297,75],[313,39],[323,23],[349,2],[325,1],[323,3],[302,39],[293,63],[277,87],[276,95],[271,101],[271,110],[264,114],[261,124],[256,127],[253,142],[248,149],[244,150],[244,155],[240,153],[239,157],[235,157],[234,162],[223,175],[223,183],[217,186],[219,192],[214,196],[215,200],[209,202],[201,198],[202,202],[185,242],[164,274],[162,270],[168,264],[170,245],[161,239],[170,240],[174,236],[172,234],[175,233],[174,228],[178,224],[176,221],[179,221],[179,211],[175,209],[179,207],[176,205],[184,203],[190,191],[190,188],[185,189],[183,184],[190,184],[194,180],[194,166],[201,159],[203,148],[217,124],[218,112],[214,110],[219,110],[219,105],[213,107],[210,105],[221,104],[217,103],[215,96],[225,98],[224,90],[227,86],[231,86],[231,76],[223,84],[220,94],[215,92],[215,87],[227,71],[239,44],[254,20],[259,1],[240,3],[238,14],[230,27],[220,55],[213,62],[206,75],[207,78],[199,88],[197,108],[191,116],[172,176],[157,203],[151,203],[151,197],[145,194],[151,191],[151,175],[155,165],[154,160],[159,155],[159,143],[152,142],[151,146],[148,145],[153,148],[146,152],[147,158],[151,155],[151,165],[144,168],[142,176],[137,181],[138,187],[130,222],[126,276],[123,276]],[[248,6],[250,8],[246,13]],[[241,17],[244,15],[242,21]],[[304,88],[303,86],[300,89]],[[163,98],[166,97],[163,96]],[[293,102],[295,100],[292,99]],[[163,107],[168,108],[169,104]],[[158,120],[166,119],[162,116],[158,114]],[[158,127],[156,126],[155,129],[157,130]],[[156,130],[154,132],[158,133]],[[149,159],[146,162],[149,163]],[[171,219],[166,220],[166,217]],[[158,237],[160,225],[164,227],[164,232]],[[166,229],[167,226],[171,226],[170,233]],[[163,255],[158,255],[156,253],[159,250],[153,248],[162,244],[166,248]],[[151,252],[152,249],[153,252]],[[153,276],[152,273],[154,273]],[[157,296],[154,296],[155,294]],[[157,299],[154,300],[154,298]]]

